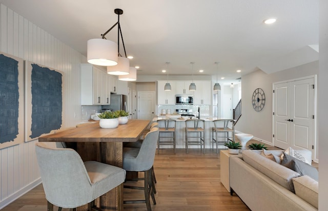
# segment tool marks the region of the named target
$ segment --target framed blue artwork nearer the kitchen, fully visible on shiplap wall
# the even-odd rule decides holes
[[[63,125],[63,74],[25,61],[25,142]]]

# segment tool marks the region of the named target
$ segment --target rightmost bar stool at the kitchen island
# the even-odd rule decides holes
[[[235,141],[235,122],[231,119],[222,119],[222,120],[214,120],[214,127],[212,127],[212,149],[214,148],[214,143],[216,143],[216,153],[217,146],[224,145],[224,143],[228,143],[229,140]],[[223,136],[220,136],[223,134]],[[225,140],[225,138],[227,138]],[[219,140],[223,139],[223,140]]]

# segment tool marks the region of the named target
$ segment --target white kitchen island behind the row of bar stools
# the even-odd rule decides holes
[[[197,118],[193,118],[197,119]],[[205,148],[212,149],[212,127],[214,127],[214,120],[219,120],[219,118],[200,118],[205,121]],[[157,120],[167,120],[167,118],[156,117],[152,121],[157,122]],[[178,118],[176,119],[176,148],[186,147],[186,119]],[[173,148],[173,146],[165,146],[167,148]],[[200,148],[199,146],[190,146],[189,148]],[[227,149],[224,146],[218,146],[218,148]]]

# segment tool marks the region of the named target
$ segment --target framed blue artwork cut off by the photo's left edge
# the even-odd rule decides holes
[[[24,60],[0,52],[0,149],[24,140]]]

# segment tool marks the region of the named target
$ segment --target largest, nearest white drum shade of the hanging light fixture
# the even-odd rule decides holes
[[[108,39],[89,39],[88,62],[100,66],[117,65],[117,43]]]

